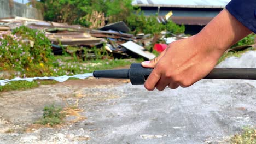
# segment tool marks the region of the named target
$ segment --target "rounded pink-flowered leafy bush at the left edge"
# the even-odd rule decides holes
[[[49,71],[44,65],[55,61],[51,43],[45,34],[25,26],[14,29],[12,34],[0,38],[0,67],[2,70]],[[37,71],[38,70],[38,71]]]

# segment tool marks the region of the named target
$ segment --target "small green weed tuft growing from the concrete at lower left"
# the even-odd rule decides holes
[[[50,106],[46,105],[43,111],[43,117],[39,121],[35,122],[36,124],[49,124],[50,126],[53,126],[61,124],[63,122],[63,118],[65,118],[65,114],[61,113],[62,108],[55,106],[54,104]]]

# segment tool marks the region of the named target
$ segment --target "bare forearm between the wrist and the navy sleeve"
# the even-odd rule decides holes
[[[224,9],[200,33],[195,35],[195,39],[199,45],[207,48],[208,52],[223,53],[250,33],[252,32],[247,27]]]

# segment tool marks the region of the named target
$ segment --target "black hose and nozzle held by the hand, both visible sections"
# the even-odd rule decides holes
[[[131,64],[130,69],[96,70],[94,77],[130,79],[132,85],[141,85],[147,80],[152,68],[144,68],[139,63]],[[256,80],[256,68],[214,68],[203,79],[246,79]]]

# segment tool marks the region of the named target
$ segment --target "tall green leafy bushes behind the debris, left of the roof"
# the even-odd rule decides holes
[[[93,11],[106,14],[109,22],[122,21],[132,13],[131,0],[41,0],[44,5],[44,19],[56,22],[79,23],[90,26],[85,16]]]

